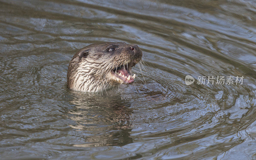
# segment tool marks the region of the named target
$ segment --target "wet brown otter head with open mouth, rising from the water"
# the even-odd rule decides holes
[[[131,69],[142,57],[136,44],[104,42],[76,52],[69,62],[67,87],[82,92],[107,90],[111,85],[131,84]]]

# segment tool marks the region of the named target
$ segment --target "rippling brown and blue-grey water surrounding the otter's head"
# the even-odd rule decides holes
[[[256,158],[255,1],[0,8],[1,159]],[[69,60],[103,41],[138,44],[145,70],[134,67],[134,85],[108,94],[68,90]],[[186,75],[244,79],[186,85]]]

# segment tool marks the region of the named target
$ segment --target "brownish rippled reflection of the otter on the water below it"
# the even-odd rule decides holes
[[[81,95],[80,95],[81,94]],[[123,146],[132,143],[129,132],[131,129],[130,104],[121,100],[120,95],[98,96],[92,94],[77,93],[70,103],[76,105],[69,110],[68,117],[74,120],[76,125],[72,128],[83,132],[83,140],[74,146]]]

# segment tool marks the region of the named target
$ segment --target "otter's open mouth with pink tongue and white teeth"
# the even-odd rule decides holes
[[[128,65],[122,65],[119,66],[117,68],[115,68],[114,70],[112,70],[112,74],[114,76],[116,76],[117,78],[121,79],[124,81],[124,84],[130,84],[134,81],[135,78],[135,74],[132,76],[129,68],[132,68],[132,66],[130,66],[130,64]]]

